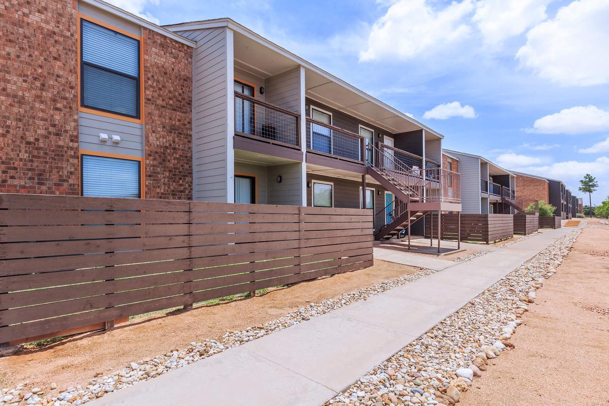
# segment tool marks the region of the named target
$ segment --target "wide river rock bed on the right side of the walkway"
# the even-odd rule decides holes
[[[516,268],[462,309],[362,376],[329,405],[449,406],[509,341],[537,289],[554,275],[580,228]],[[522,240],[522,239],[519,239]]]

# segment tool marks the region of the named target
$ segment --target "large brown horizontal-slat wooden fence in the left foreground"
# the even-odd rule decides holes
[[[0,194],[0,343],[372,265],[373,212]]]

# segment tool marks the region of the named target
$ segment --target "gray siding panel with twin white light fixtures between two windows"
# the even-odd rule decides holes
[[[100,133],[107,134],[108,141],[99,141]],[[121,137],[119,144],[112,142],[113,135]],[[141,157],[144,156],[144,126],[81,111],[79,147],[88,151]]]

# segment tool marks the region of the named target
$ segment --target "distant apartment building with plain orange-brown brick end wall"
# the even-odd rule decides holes
[[[563,220],[577,216],[576,200],[573,200],[574,196],[562,181],[530,173],[513,172],[517,175],[516,187],[518,187],[519,197],[549,203],[555,207],[554,215]],[[577,199],[577,197],[575,198]]]

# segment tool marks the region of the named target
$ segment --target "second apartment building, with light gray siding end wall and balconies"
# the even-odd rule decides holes
[[[514,214],[516,176],[489,159],[454,150],[443,150],[458,159],[464,214]]]

